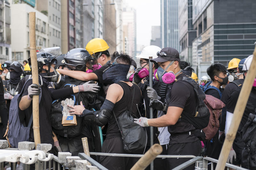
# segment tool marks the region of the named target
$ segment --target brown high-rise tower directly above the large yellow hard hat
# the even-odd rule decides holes
[[[109,53],[116,51],[116,5],[113,0],[104,1],[103,39],[108,43]]]

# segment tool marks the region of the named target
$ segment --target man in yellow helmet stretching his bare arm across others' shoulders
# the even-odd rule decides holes
[[[108,44],[105,40],[101,38],[94,38],[89,41],[85,47],[85,49],[97,58],[99,67],[98,70],[84,72],[84,71],[76,71],[76,70],[63,70],[57,69],[60,74],[67,75],[69,77],[75,78],[77,80],[89,81],[89,80],[99,80],[102,82],[102,74],[103,71],[108,67],[107,65],[110,63],[110,55],[108,52]],[[102,67],[101,67],[102,66]]]

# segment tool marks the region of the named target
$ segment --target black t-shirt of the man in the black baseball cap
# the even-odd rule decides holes
[[[177,79],[180,77],[186,76],[184,73],[177,76]],[[182,81],[182,80],[181,80]],[[194,89],[191,85],[187,83],[185,85],[182,82],[174,82],[173,85],[169,89],[170,93],[170,106],[181,107],[183,111],[190,115],[194,115],[196,111],[196,96]],[[182,114],[181,114],[182,116]],[[194,135],[178,135],[172,137],[172,134],[176,133],[184,133],[191,130],[196,129],[192,124],[187,122],[181,122],[181,119],[175,125],[168,126],[168,131],[171,134],[169,144],[177,144],[177,143],[188,143],[195,142],[198,140]]]

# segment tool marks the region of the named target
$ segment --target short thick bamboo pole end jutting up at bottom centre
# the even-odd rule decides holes
[[[148,152],[143,155],[136,164],[132,166],[131,170],[143,170],[145,169],[155,158],[157,155],[162,153],[163,148],[160,144],[152,145]]]

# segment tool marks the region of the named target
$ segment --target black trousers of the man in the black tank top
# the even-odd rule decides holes
[[[103,153],[126,153],[124,151],[124,144],[121,137],[113,137],[105,139],[102,145]],[[111,170],[125,170],[131,169],[132,166],[140,158],[132,157],[114,157],[114,156],[100,156],[99,163]]]

